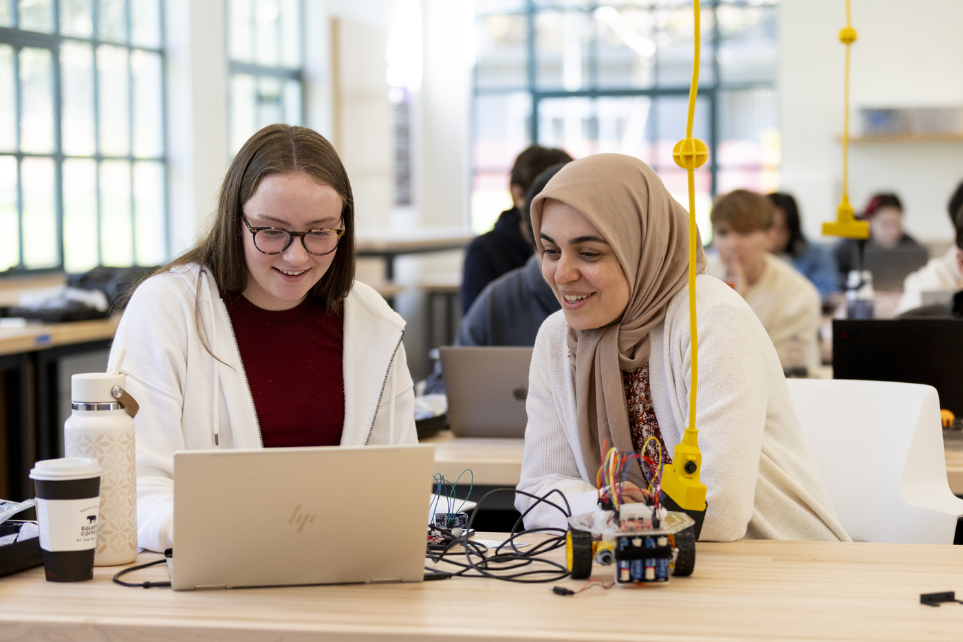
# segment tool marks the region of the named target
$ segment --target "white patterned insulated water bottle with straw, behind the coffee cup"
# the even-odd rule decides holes
[[[115,372],[74,374],[73,412],[64,424],[67,457],[91,457],[103,469],[94,566],[129,564],[137,558],[137,471],[134,415],[137,402],[126,392],[117,359]]]

